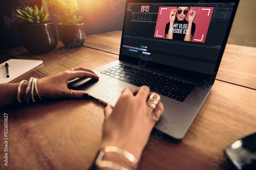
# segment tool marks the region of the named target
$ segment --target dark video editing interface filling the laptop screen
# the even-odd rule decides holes
[[[212,75],[234,3],[127,4],[121,54]]]

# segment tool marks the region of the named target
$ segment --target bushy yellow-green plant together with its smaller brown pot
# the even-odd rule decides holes
[[[81,16],[77,17],[75,12],[79,6],[76,0],[43,0],[47,7],[56,11],[55,16],[59,19],[59,37],[67,48],[80,47],[86,40],[84,23],[81,23]]]

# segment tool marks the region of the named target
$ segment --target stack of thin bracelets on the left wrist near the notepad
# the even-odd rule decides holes
[[[19,103],[23,103],[21,100],[20,100],[20,88],[22,87],[22,84],[24,82],[27,82],[27,80],[23,80],[19,83],[18,85],[18,89],[17,89],[17,100]],[[38,90],[37,90],[37,86],[36,86],[36,82],[37,82],[37,78],[33,78],[31,77],[29,79],[29,83],[28,83],[28,86],[26,88],[26,91],[25,91],[25,98],[24,100],[29,104],[31,101],[32,102],[35,102],[35,99],[34,99],[34,90],[36,92],[36,95],[38,97],[38,99],[41,99],[39,93],[38,93]]]

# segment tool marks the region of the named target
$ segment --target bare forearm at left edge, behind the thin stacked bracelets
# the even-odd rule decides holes
[[[13,103],[17,103],[17,89],[19,83],[8,83],[8,84],[0,84],[0,107],[10,105]],[[28,86],[28,82],[25,82],[20,87],[20,99],[24,99],[26,87]]]

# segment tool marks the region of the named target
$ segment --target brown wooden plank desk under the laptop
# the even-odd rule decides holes
[[[92,45],[68,51],[59,42],[54,52],[37,56],[23,47],[12,48],[0,52],[0,62],[11,58],[44,61],[13,82],[49,76],[79,65],[94,69],[118,59],[118,37],[120,32],[88,36],[86,46],[100,44],[97,41],[102,40],[103,48]],[[251,58],[250,63],[244,58]],[[229,75],[222,75],[226,77],[224,80],[215,82],[183,140],[176,141],[153,130],[139,169],[232,169],[223,150],[234,140],[256,131],[253,82],[248,80],[235,85],[227,78],[253,77],[249,74],[255,72],[255,68],[250,67],[255,62],[252,54],[247,53],[241,60],[244,62],[236,63],[238,68],[248,69],[242,75],[230,71]],[[230,63],[223,62],[220,70],[224,71],[222,67]],[[0,108],[0,169],[88,169],[101,141],[103,109],[93,100],[64,99],[44,99],[30,105]],[[8,114],[8,167],[3,163],[4,113]]]

